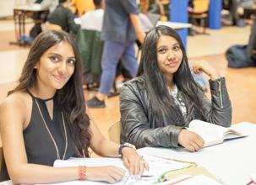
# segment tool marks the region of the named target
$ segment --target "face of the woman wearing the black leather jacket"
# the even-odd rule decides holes
[[[166,79],[172,81],[173,74],[182,63],[181,46],[172,36],[161,34],[156,49],[159,67]]]

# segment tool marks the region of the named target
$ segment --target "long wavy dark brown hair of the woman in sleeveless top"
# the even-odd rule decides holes
[[[66,41],[72,46],[76,59],[74,74],[60,90],[57,90],[57,102],[62,108],[64,119],[68,123],[68,129],[76,146],[77,156],[89,156],[88,147],[90,145],[90,118],[85,113],[84,92],[82,88],[82,71],[79,50],[73,38],[63,31],[48,30],[39,34],[31,45],[29,55],[25,61],[25,66],[19,77],[19,85],[14,90],[8,92],[25,92],[33,87],[36,81],[36,69],[34,68],[41,56],[58,43]]]

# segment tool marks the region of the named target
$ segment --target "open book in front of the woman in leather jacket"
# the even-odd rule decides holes
[[[204,147],[223,143],[224,140],[245,137],[235,128],[222,127],[216,124],[194,119],[188,124],[188,129],[200,135],[204,140]]]

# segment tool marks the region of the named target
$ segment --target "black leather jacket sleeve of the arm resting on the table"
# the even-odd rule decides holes
[[[138,92],[138,91],[136,91]],[[136,147],[162,146],[177,147],[177,137],[182,129],[175,125],[151,128],[147,112],[143,107],[140,96],[133,87],[123,86],[120,95],[120,110],[122,119],[122,141],[129,142]]]

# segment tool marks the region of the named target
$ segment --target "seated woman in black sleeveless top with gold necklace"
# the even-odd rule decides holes
[[[33,42],[19,85],[0,107],[3,141],[1,180],[49,183],[70,180],[117,182],[124,170],[117,166],[52,167],[57,159],[123,155],[131,174],[147,163],[128,146],[101,135],[86,114],[81,63],[74,40],[62,31],[46,31]]]

